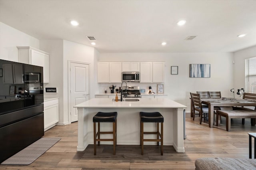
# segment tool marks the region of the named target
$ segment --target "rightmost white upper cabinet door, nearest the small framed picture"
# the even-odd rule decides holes
[[[164,82],[164,62],[153,62],[153,83]]]

